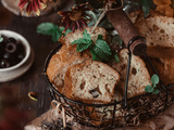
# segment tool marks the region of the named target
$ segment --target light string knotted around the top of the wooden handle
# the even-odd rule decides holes
[[[105,4],[105,6],[104,6],[104,9],[103,9],[103,12],[101,13],[100,17],[98,18],[98,21],[96,22],[96,24],[95,24],[95,26],[94,26],[94,28],[92,28],[92,30],[91,30],[91,34],[95,31],[96,27],[97,27],[98,24],[101,22],[101,20],[104,17],[104,15],[105,15],[105,13],[107,13],[108,11],[115,11],[115,10],[119,10],[119,9],[123,8],[123,0],[121,0],[121,2],[122,2],[122,5],[119,6],[119,8],[115,8],[115,9],[112,8],[112,4],[116,4],[115,1],[109,1],[109,2]]]

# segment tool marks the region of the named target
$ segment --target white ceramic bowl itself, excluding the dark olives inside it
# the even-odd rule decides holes
[[[16,79],[28,70],[34,61],[34,52],[28,41],[20,34],[11,30],[0,30],[0,35],[5,36],[7,38],[15,38],[17,41],[21,41],[25,48],[25,57],[20,63],[8,68],[0,68],[0,82],[4,82]]]

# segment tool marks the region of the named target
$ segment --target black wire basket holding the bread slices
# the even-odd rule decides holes
[[[142,37],[135,37],[129,41],[129,46]],[[144,39],[145,40],[145,39]],[[128,49],[129,49],[128,46]],[[50,58],[55,54],[61,46],[57,47],[47,57],[45,64],[45,74]],[[145,58],[151,66],[154,74],[158,75],[149,56],[145,54]],[[66,115],[73,116],[80,125],[98,127],[98,128],[115,128],[125,126],[138,126],[141,119],[147,119],[156,116],[167,108],[173,102],[173,96],[169,89],[174,84],[165,87],[160,80],[159,94],[145,93],[132,99],[127,99],[128,76],[130,68],[132,53],[128,53],[128,64],[125,83],[125,93],[123,100],[110,104],[86,104],[78,101],[73,101],[61,94],[55,87],[49,81],[46,75],[46,81],[53,100],[58,100],[63,104]]]

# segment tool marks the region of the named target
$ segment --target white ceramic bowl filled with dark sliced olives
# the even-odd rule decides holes
[[[33,61],[34,52],[23,36],[0,30],[0,82],[18,78],[28,70]]]

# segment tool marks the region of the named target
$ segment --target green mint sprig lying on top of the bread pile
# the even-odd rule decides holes
[[[92,55],[94,61],[109,61],[112,55],[111,49],[108,46],[107,41],[103,40],[101,35],[98,36],[96,43],[91,40],[90,35],[85,31],[83,32],[83,38],[74,40],[71,44],[77,44],[77,52],[89,49],[89,52]]]

